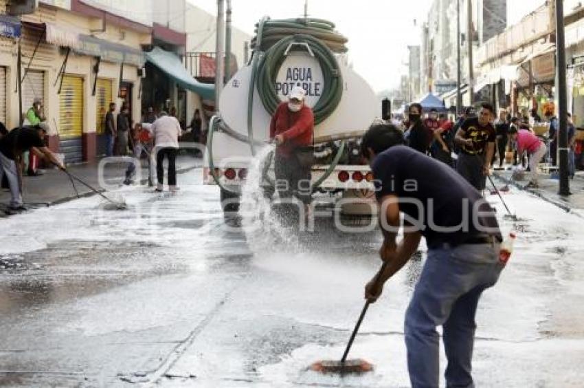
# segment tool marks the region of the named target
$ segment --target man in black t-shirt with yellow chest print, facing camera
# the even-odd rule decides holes
[[[493,105],[483,104],[479,116],[465,120],[454,138],[460,146],[456,171],[478,191],[484,190],[495,153],[496,136],[491,120]]]

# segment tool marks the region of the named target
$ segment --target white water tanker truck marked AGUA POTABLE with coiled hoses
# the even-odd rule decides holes
[[[376,211],[359,142],[379,103],[348,65],[347,39],[334,28],[319,19],[265,18],[256,25],[251,59],[227,81],[207,136],[203,179],[220,186],[224,211],[238,209],[250,161],[269,141],[271,116],[297,85],[315,116],[313,197],[345,216]],[[261,184],[273,185],[269,171]]]

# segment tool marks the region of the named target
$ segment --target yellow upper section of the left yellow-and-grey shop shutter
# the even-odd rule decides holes
[[[59,95],[59,138],[80,138],[83,131],[83,78],[63,76]]]

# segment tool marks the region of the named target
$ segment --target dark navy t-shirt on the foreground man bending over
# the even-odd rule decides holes
[[[491,205],[447,164],[396,146],[377,155],[373,175],[377,199],[396,195],[400,211],[419,228],[429,248],[462,244],[477,235],[502,240]]]

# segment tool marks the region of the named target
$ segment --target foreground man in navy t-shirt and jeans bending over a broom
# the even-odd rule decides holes
[[[374,125],[361,142],[381,208],[385,263],[366,285],[365,297],[376,301],[385,281],[405,266],[425,237],[427,260],[405,315],[409,377],[414,388],[438,387],[436,326],[442,325],[447,386],[472,387],[475,312],[480,295],[503,268],[497,219],[456,171],[402,144],[401,131],[392,125]],[[403,239],[396,244],[401,227]]]

